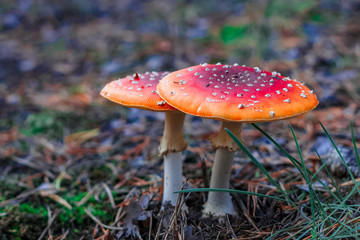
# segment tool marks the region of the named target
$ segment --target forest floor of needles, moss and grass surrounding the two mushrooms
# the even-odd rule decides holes
[[[359,1],[119,2],[0,3],[0,239],[358,237]],[[218,61],[290,75],[320,104],[257,125],[282,148],[244,125],[283,192],[239,151],[231,188],[255,195],[232,194],[237,216],[202,217],[206,192],[161,211],[163,114],[99,92],[126,74]],[[219,127],[187,116],[185,189],[209,186]]]

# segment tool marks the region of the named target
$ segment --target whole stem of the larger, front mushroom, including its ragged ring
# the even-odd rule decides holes
[[[235,151],[239,149],[236,143],[226,132],[229,129],[237,138],[241,135],[241,122],[223,122],[219,134],[211,139],[216,148],[214,165],[212,168],[210,188],[229,189],[231,177],[231,166],[234,160]],[[208,201],[203,211],[206,215],[225,216],[234,215],[234,204],[227,192],[209,192]]]

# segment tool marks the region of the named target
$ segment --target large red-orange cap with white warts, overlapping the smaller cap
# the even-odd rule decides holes
[[[172,72],[157,89],[182,112],[228,121],[274,121],[318,105],[315,94],[296,80],[238,64],[205,63]]]

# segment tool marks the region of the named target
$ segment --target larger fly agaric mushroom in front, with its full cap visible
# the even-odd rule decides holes
[[[158,84],[159,95],[180,111],[222,121],[212,137],[216,148],[211,188],[229,188],[236,143],[225,131],[241,139],[243,122],[267,122],[291,118],[312,110],[318,100],[306,86],[277,72],[258,67],[201,64],[173,72]],[[234,214],[231,196],[209,192],[205,214]]]

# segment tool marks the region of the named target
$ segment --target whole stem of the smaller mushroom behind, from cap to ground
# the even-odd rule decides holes
[[[183,126],[185,114],[179,111],[165,113],[163,137],[159,146],[160,156],[164,156],[164,195],[163,205],[170,202],[175,206],[178,194],[174,192],[182,187],[182,155],[186,148]]]

